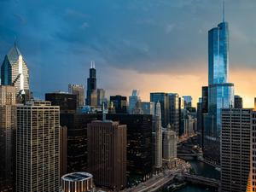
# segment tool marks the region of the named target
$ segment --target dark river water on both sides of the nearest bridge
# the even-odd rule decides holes
[[[195,173],[197,175],[201,175],[203,177],[212,177],[219,179],[220,173],[213,167],[209,166],[208,164],[198,161],[198,160],[191,160],[191,166],[195,169]],[[202,187],[202,186],[195,186],[195,185],[187,185],[183,189],[177,190],[177,192],[210,192],[211,190]]]

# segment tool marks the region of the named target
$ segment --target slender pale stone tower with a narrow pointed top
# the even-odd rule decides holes
[[[162,124],[161,124],[161,106],[160,102],[156,103],[155,108],[155,169],[160,169],[162,167]]]

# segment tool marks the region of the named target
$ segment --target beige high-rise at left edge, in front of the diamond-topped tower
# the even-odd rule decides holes
[[[15,190],[15,86],[0,85],[0,191]]]

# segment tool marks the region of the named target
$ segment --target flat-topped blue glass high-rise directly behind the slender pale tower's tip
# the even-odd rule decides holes
[[[166,127],[168,125],[168,94],[164,92],[150,93],[150,102],[160,102],[162,127]],[[154,110],[156,110],[156,105]]]

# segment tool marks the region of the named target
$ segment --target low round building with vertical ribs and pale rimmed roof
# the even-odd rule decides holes
[[[94,190],[92,175],[73,172],[61,177],[61,192],[91,192]]]

